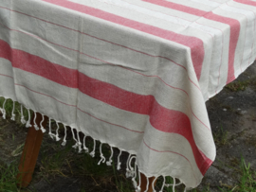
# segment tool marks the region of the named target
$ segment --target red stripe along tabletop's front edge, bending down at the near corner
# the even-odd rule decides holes
[[[120,26],[127,26],[130,28],[137,29],[139,31],[155,35],[157,37],[178,43],[183,44],[191,48],[192,51],[192,63],[194,67],[194,71],[197,79],[200,79],[202,64],[205,56],[205,49],[203,41],[186,35],[181,35],[178,33],[174,33],[173,31],[165,30],[162,28],[158,28],[156,26],[149,26],[143,23],[139,23],[137,21],[133,21],[124,17],[120,17],[118,15],[105,12],[101,9],[94,9],[87,6],[83,6],[81,4],[73,3],[66,0],[43,0],[48,3],[58,5],[67,9],[73,9],[80,11],[85,14],[89,14],[94,17],[101,18],[103,20],[119,24]]]

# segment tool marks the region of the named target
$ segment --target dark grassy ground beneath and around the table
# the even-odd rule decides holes
[[[8,104],[11,111],[11,101]],[[256,191],[256,63],[206,104],[217,156],[202,183],[192,191]],[[78,153],[72,148],[70,132],[68,135],[66,147],[45,135],[32,182],[27,189],[19,189],[15,176],[27,128],[19,120],[0,117],[0,192],[133,191],[124,173],[127,154],[121,158],[122,171],[115,166],[98,166],[100,159]],[[109,148],[104,153],[109,156]],[[156,187],[159,190],[158,184]],[[183,191],[182,187],[177,191]]]

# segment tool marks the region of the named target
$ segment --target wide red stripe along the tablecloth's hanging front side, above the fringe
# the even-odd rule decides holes
[[[138,95],[107,82],[89,78],[77,70],[60,66],[21,50],[11,49],[9,44],[2,40],[0,40],[0,47],[6,50],[0,52],[0,57],[11,61],[13,67],[67,87],[78,88],[83,94],[94,97],[121,110],[149,115],[150,123],[156,130],[174,132],[184,136],[192,146],[196,164],[203,175],[212,163],[196,147],[189,117],[185,113],[164,108],[157,103],[154,96]]]

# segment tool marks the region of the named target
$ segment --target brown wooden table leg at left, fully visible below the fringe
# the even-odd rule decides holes
[[[34,115],[33,115],[34,116]],[[32,180],[32,174],[34,172],[34,168],[36,165],[36,161],[38,158],[39,150],[42,144],[44,133],[40,131],[36,131],[34,128],[33,119],[31,118],[30,124],[32,127],[29,128],[27,132],[27,139],[25,143],[25,147],[23,149],[22,157],[19,165],[19,173],[17,175],[18,183],[17,185],[20,187],[27,187],[27,185]],[[38,127],[40,127],[40,123],[43,119],[41,113],[36,113],[36,123]],[[44,128],[46,128],[46,122],[48,118],[45,116],[45,120],[42,123]]]

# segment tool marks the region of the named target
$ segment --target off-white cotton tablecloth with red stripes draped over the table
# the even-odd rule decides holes
[[[205,101],[255,60],[255,18],[251,0],[1,0],[0,96],[196,187]]]

